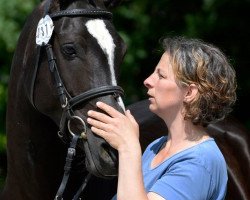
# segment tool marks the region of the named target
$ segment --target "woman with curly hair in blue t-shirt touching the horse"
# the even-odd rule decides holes
[[[164,53],[144,85],[149,108],[168,135],[141,157],[138,124],[129,111],[123,115],[98,102],[107,114],[88,112],[92,131],[118,150],[117,199],[224,199],[226,163],[205,127],[231,111],[235,71],[218,48],[200,40],[165,38],[162,44]]]

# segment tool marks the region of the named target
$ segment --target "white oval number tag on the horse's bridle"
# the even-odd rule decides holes
[[[48,44],[54,30],[54,24],[49,15],[40,19],[36,29],[36,44],[43,46]]]

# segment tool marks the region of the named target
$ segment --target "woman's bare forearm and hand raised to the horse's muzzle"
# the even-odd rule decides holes
[[[91,130],[103,137],[119,153],[118,200],[162,200],[155,193],[147,195],[142,177],[139,126],[129,111],[121,114],[111,106],[98,102],[108,115],[89,111]],[[149,198],[150,197],[150,198]]]

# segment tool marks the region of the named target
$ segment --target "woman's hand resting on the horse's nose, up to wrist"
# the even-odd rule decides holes
[[[107,114],[90,110],[87,121],[91,130],[118,151],[138,149],[139,126],[130,111],[125,111],[124,115],[105,103],[96,105]]]

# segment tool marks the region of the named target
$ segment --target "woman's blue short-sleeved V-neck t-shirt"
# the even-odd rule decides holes
[[[152,142],[142,157],[144,186],[167,200],[222,200],[227,189],[225,159],[210,138],[183,150],[155,168],[151,163],[167,137]]]

